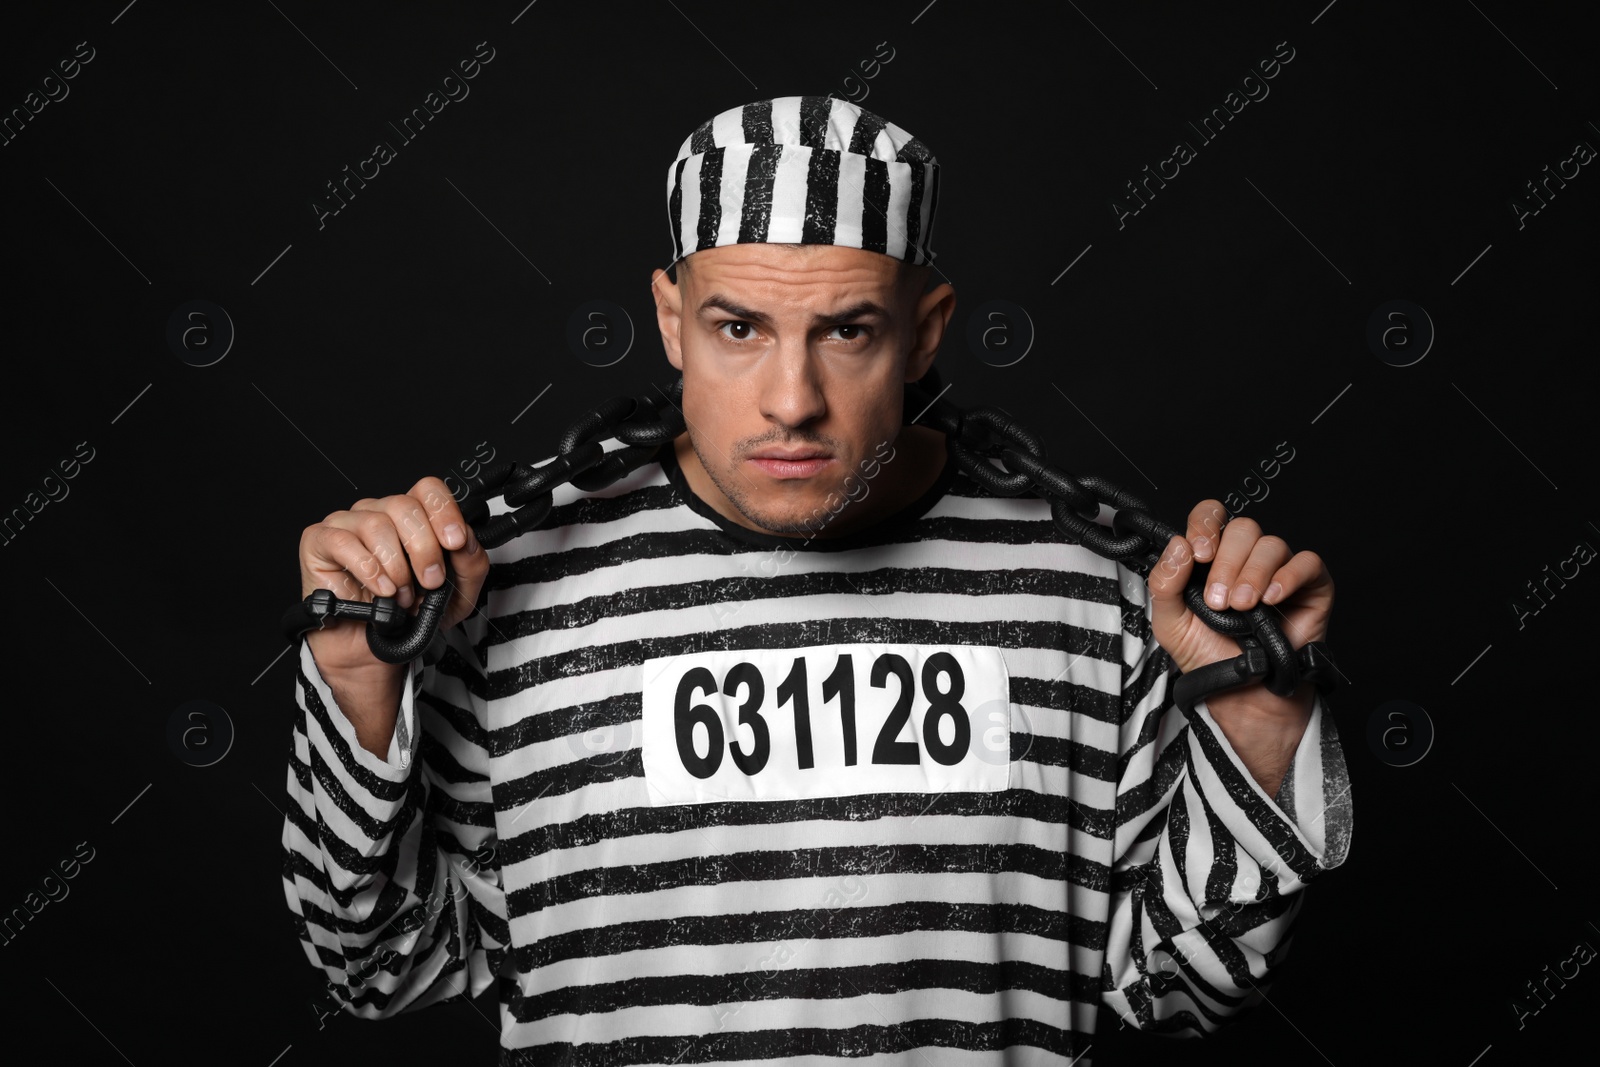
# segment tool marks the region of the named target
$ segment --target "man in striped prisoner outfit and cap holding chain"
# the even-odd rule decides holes
[[[845,101],[717,115],[651,278],[672,448],[493,552],[437,478],[304,531],[302,595],[456,582],[442,654],[301,649],[283,878],[330,1011],[498,977],[509,1064],[1086,1064],[1102,1003],[1259,1000],[1344,758],[1309,683],[1173,705],[1238,653],[1181,590],[1211,560],[1299,648],[1331,579],[1202,501],[1146,582],[904,426],[936,189]]]

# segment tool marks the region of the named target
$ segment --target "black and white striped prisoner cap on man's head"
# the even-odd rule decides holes
[[[706,120],[667,171],[672,262],[744,243],[848,245],[933,262],[928,147],[832,96],[779,96]]]

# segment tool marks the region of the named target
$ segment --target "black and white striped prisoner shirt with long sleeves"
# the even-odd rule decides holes
[[[330,1011],[498,981],[502,1064],[1088,1064],[1101,1005],[1259,1001],[1349,849],[1320,694],[1267,797],[1171,702],[1146,581],[954,462],[806,541],[664,448],[490,558],[387,758],[301,645],[283,888]]]

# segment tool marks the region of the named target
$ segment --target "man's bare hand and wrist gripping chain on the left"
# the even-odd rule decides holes
[[[350,510],[307,526],[299,545],[301,598],[318,589],[331,589],[342,600],[395,597],[416,614],[422,593],[445,582],[446,550],[454,589],[440,630],[448,630],[472,614],[490,560],[440,478],[422,478],[410,493],[357,501]],[[310,630],[306,643],[362,747],[382,757],[394,733],[405,665],[373,656],[366,624],[358,619]]]

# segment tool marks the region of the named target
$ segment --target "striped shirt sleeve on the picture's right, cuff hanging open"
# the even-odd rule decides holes
[[[1101,995],[1141,1030],[1197,1037],[1259,1003],[1306,883],[1350,848],[1350,781],[1318,693],[1277,797],[1205,701],[1171,699],[1144,579],[1123,565],[1123,688],[1112,904]]]

